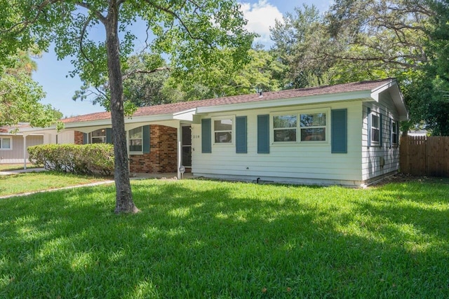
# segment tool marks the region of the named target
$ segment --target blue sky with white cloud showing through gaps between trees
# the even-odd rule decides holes
[[[269,27],[274,26],[274,20],[281,20],[285,13],[293,12],[295,7],[302,4],[314,4],[321,11],[326,11],[331,0],[319,1],[305,0],[241,0],[241,8],[245,18],[248,20],[247,29],[260,34],[257,42],[269,47]],[[136,45],[142,41],[135,41]],[[58,61],[53,49],[43,53],[36,60],[37,71],[33,74],[35,81],[42,85],[46,92],[46,98],[41,100],[42,104],[51,104],[55,109],[62,112],[64,116],[77,116],[86,113],[105,111],[102,106],[93,105],[91,102],[80,102],[72,100],[74,92],[81,87],[79,78],[67,76],[73,67],[70,60]]]

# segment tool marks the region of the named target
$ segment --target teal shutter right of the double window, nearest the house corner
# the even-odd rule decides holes
[[[347,153],[347,109],[336,109],[331,111],[331,126],[331,153]]]

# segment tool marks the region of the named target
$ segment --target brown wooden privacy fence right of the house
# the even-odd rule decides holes
[[[449,137],[401,137],[401,172],[449,177]]]

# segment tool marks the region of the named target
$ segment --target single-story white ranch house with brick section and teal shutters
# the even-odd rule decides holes
[[[363,186],[398,171],[407,119],[387,79],[142,107],[125,128],[130,172]],[[75,144],[112,142],[107,112],[63,122]]]

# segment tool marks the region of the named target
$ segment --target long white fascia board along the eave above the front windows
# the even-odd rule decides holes
[[[235,111],[235,110],[264,109],[281,106],[346,102],[346,101],[368,99],[370,98],[370,93],[371,93],[370,90],[362,90],[357,92],[340,92],[331,95],[313,95],[309,97],[295,97],[290,99],[272,99],[269,101],[257,101],[239,104],[227,104],[220,106],[199,107],[196,109],[196,111],[197,113],[214,113],[214,112]]]

